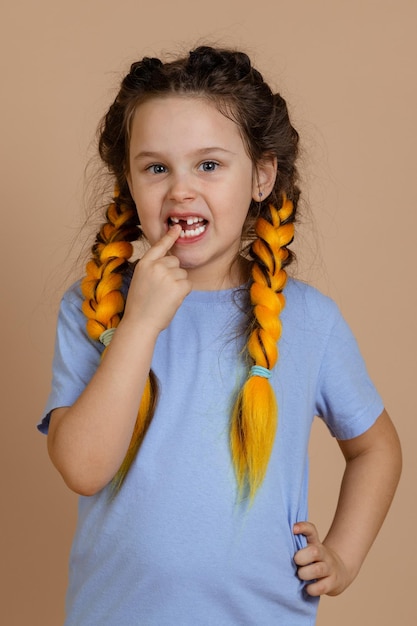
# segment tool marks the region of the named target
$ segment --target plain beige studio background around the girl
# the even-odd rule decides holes
[[[287,97],[311,212],[299,275],[340,304],[403,442],[386,525],[354,585],[323,599],[318,624],[417,623],[416,18],[415,0],[3,3],[2,624],[62,623],[76,497],[35,422],[58,301],[80,250],[96,123],[131,60],[200,38],[246,48]],[[342,463],[320,425],[311,452],[311,519],[323,534]]]

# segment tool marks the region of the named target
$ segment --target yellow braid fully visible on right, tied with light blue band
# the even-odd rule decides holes
[[[286,223],[293,213],[292,202],[284,196],[282,207],[277,210],[270,205],[269,212],[271,222],[258,218],[257,239],[251,247],[250,299],[255,325],[247,350],[254,366],[236,401],[230,432],[239,490],[242,494],[248,488],[250,500],[265,477],[277,429],[277,403],[268,379],[278,359],[279,316],[285,305],[282,290],[287,280],[283,266],[289,256],[286,246],[294,237],[293,223]]]

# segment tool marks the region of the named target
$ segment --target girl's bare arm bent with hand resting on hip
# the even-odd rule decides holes
[[[354,580],[388,512],[401,473],[401,448],[384,411],[363,435],[339,441],[346,469],[331,528],[320,542],[315,526],[299,522],[307,547],[295,554],[311,596],[337,595]]]

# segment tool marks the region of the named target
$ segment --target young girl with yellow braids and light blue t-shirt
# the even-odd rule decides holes
[[[81,495],[67,626],[311,625],[378,532],[399,444],[336,305],[287,279],[297,145],[248,57],[209,47],[134,63],[103,120],[116,191],[40,425]],[[315,415],[346,459],[323,541]]]

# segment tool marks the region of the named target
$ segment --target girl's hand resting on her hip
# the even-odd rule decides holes
[[[307,547],[294,556],[300,580],[312,581],[306,585],[306,592],[310,596],[336,596],[342,593],[351,582],[346,566],[333,550],[321,543],[314,524],[298,522],[293,532],[307,539]]]

